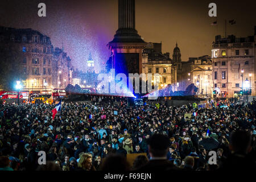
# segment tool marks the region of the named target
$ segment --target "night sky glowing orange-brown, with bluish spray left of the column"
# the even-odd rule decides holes
[[[38,16],[38,4],[46,3],[46,17]],[[217,18],[208,16],[208,5],[217,4]],[[161,42],[163,52],[173,53],[176,41],[181,59],[210,55],[216,35],[224,35],[225,19],[235,19],[227,25],[227,34],[238,37],[254,34],[256,1],[208,0],[137,0],[136,29],[146,42]],[[0,26],[32,28],[51,38],[55,47],[62,47],[75,68],[83,69],[92,52],[98,66],[110,56],[106,44],[118,28],[118,0],[1,0]],[[218,25],[210,23],[217,19]],[[172,56],[171,56],[172,57]]]

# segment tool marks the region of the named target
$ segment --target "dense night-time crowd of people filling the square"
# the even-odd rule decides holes
[[[223,105],[127,106],[126,98],[94,96],[90,103],[62,104],[54,119],[55,105],[0,105],[0,170],[255,168],[255,101]],[[39,151],[46,165],[39,164]],[[209,162],[210,151],[216,163]],[[130,165],[129,154],[141,155]]]

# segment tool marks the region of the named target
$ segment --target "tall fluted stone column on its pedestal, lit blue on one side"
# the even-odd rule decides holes
[[[142,50],[146,42],[135,30],[135,0],[118,0],[118,30],[108,43],[109,67],[115,73],[142,73]]]

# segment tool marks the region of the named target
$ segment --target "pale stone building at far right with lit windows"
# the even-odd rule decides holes
[[[255,96],[255,40],[254,36],[236,38],[229,35],[215,37],[212,45],[213,87],[216,97],[240,96],[240,91],[251,89]],[[250,80],[249,86],[246,79]]]

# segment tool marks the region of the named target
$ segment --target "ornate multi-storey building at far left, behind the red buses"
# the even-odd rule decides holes
[[[64,88],[71,82],[71,59],[63,49],[53,49],[51,39],[41,32],[0,27],[0,44],[13,45],[23,53],[22,69],[27,76],[23,90],[51,93],[53,88]]]

